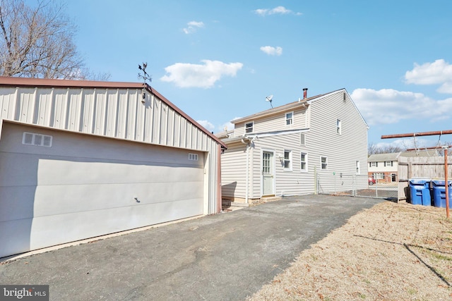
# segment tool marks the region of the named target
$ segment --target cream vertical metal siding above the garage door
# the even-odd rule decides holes
[[[1,118],[72,132],[207,151],[210,138],[140,89],[2,87]]]

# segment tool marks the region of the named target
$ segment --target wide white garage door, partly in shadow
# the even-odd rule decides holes
[[[203,214],[202,152],[4,123],[0,257]]]

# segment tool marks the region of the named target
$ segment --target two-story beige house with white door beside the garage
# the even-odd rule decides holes
[[[297,102],[231,122],[217,135],[227,144],[224,200],[367,188],[368,126],[345,89],[309,98],[306,89]]]

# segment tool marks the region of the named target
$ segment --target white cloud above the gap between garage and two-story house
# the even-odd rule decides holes
[[[167,66],[166,75],[160,80],[174,82],[177,87],[210,88],[223,75],[234,77],[242,69],[243,63],[223,63],[222,61],[203,60],[203,64],[175,63]]]

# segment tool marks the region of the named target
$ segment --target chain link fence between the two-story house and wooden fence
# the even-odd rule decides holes
[[[397,199],[398,183],[393,176],[361,175],[317,175],[317,192],[328,195],[350,195],[353,197],[379,197]]]

